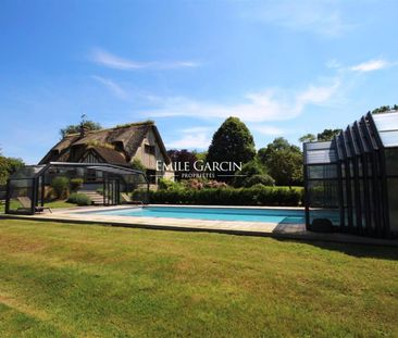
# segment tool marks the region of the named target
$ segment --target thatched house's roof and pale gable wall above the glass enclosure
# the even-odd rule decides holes
[[[157,172],[157,161],[170,163],[170,158],[153,122],[132,123],[101,130],[80,129],[66,135],[39,164],[48,162],[111,163],[130,166],[134,159],[147,168],[156,183],[158,176],[174,177],[174,173]]]

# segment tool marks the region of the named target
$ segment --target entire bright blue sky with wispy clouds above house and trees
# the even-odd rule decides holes
[[[0,147],[38,162],[80,115],[154,120],[206,149],[229,115],[257,148],[398,103],[398,1],[0,3]]]

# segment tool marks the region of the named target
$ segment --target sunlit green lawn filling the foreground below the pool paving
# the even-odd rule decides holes
[[[397,337],[398,249],[0,221],[0,337]]]

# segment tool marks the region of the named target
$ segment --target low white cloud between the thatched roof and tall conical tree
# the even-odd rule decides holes
[[[166,147],[177,149],[206,149],[211,142],[208,127],[192,127],[179,130],[181,138],[166,142]]]

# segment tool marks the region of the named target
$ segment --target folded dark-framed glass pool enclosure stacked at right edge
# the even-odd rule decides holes
[[[306,224],[398,237],[398,112],[366,114],[328,142],[304,151]]]

